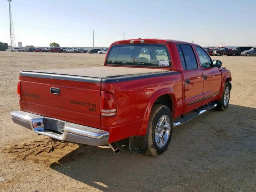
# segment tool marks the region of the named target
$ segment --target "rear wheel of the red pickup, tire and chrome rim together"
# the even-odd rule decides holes
[[[154,104],[148,122],[147,154],[158,156],[168,147],[172,136],[172,113],[162,104]]]

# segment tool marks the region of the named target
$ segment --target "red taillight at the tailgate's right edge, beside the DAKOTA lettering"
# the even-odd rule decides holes
[[[102,91],[100,94],[101,116],[116,116],[116,99],[112,93]]]

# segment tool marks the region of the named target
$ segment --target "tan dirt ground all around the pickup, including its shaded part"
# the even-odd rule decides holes
[[[105,55],[0,52],[0,192],[256,191],[256,57],[221,56],[232,72],[229,108],[174,128],[158,157],[108,146],[52,143],[14,124],[20,70],[101,66]],[[52,145],[54,151],[52,151]]]

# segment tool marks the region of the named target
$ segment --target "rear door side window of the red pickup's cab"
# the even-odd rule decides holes
[[[196,56],[192,47],[188,44],[179,44],[177,45],[180,59],[182,62],[182,66],[186,70],[196,69],[198,68],[196,62]]]

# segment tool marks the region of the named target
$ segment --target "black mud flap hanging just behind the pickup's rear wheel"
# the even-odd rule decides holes
[[[144,136],[132,136],[129,140],[129,148],[132,152],[146,153],[148,146],[148,134]]]

